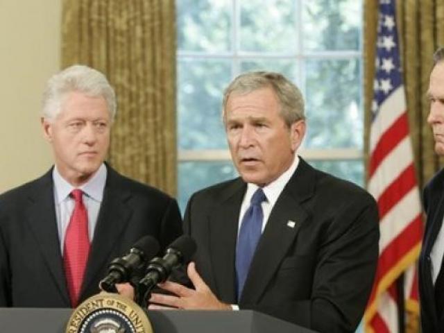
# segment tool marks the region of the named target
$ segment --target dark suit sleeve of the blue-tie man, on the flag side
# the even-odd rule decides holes
[[[361,320],[377,266],[379,225],[374,200],[369,196],[355,198],[344,210],[338,210],[323,232],[309,299],[277,299],[275,304],[268,301],[242,307],[319,332],[353,332]]]

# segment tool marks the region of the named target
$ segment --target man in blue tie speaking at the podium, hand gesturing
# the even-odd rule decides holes
[[[375,200],[298,157],[304,105],[282,75],[236,78],[223,119],[241,178],[191,197],[194,289],[166,282],[176,296],[153,293],[149,308],[255,309],[320,332],[355,331],[377,264]]]

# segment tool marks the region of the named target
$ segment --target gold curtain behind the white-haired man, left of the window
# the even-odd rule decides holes
[[[63,0],[62,67],[102,71],[117,94],[108,162],[176,194],[174,0]]]

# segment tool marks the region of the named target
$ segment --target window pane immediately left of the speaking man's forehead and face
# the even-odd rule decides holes
[[[180,149],[227,148],[221,110],[223,89],[230,79],[230,60],[178,61]]]

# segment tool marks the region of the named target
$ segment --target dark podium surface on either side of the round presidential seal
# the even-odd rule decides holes
[[[1,332],[65,333],[72,309],[0,308]],[[148,311],[154,333],[314,333],[256,311]]]

